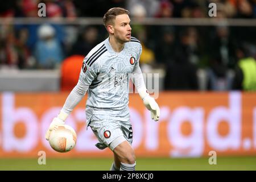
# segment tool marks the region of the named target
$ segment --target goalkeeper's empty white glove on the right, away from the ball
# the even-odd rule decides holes
[[[143,98],[143,103],[147,107],[148,110],[151,112],[151,119],[154,119],[155,121],[159,120],[160,117],[160,108],[153,97],[150,97],[149,95],[146,95]]]

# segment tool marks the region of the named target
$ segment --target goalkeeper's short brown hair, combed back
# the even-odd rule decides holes
[[[122,14],[129,15],[130,12],[121,7],[113,7],[112,9],[109,9],[103,17],[103,22],[105,27],[107,27],[109,24],[113,24],[113,20],[115,19],[115,16],[122,15]]]

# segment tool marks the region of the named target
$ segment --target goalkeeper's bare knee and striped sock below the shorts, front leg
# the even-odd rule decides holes
[[[113,150],[114,154],[120,160],[120,171],[134,171],[136,166],[135,152],[130,143],[125,140],[118,144]]]

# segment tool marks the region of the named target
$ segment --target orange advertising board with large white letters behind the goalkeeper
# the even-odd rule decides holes
[[[111,156],[98,150],[85,128],[86,97],[67,119],[77,132],[76,147],[65,154],[51,149],[44,134],[68,93],[1,93],[0,158]],[[133,147],[137,156],[200,157],[256,155],[256,93],[162,92],[159,122],[150,117],[138,94],[130,94]]]

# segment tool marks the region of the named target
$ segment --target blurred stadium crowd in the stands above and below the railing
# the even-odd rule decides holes
[[[255,0],[9,0],[0,1],[0,18],[99,17],[111,7],[124,7],[131,18],[256,18]],[[164,88],[199,90],[204,69],[208,90],[256,90],[256,27],[149,26],[132,24],[143,47],[144,68],[166,71]],[[72,55],[85,56],[107,36],[104,26],[0,23],[0,69],[57,69]]]

